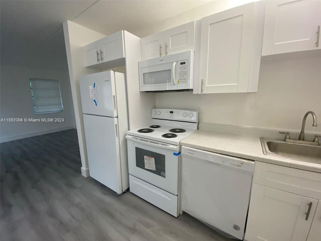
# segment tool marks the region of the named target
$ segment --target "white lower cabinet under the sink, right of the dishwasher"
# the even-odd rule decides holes
[[[257,164],[244,240],[320,241],[321,174]]]

